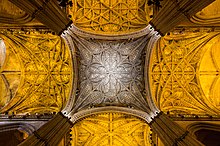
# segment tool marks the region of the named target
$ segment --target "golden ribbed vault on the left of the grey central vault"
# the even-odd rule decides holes
[[[0,37],[6,45],[1,86],[7,90],[6,94],[0,91],[4,106],[0,112],[47,113],[63,109],[72,84],[71,55],[64,41],[37,32],[5,33]]]

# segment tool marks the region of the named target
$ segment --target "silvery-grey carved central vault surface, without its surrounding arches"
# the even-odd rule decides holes
[[[75,109],[119,105],[146,108],[143,50],[147,39],[79,38],[79,90]]]

